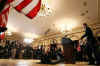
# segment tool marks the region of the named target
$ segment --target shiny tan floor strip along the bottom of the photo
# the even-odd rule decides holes
[[[16,59],[0,59],[0,66],[95,66],[88,65],[87,62],[77,62],[76,64],[38,64],[40,60],[16,60]]]

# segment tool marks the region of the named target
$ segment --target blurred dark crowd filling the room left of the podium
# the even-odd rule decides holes
[[[57,44],[51,44],[49,49],[45,51],[45,46],[40,45],[33,48],[30,45],[21,44],[15,40],[1,40],[0,42],[0,58],[1,59],[41,59],[48,60],[46,57],[57,59],[57,55],[63,57],[61,48],[57,48]],[[56,57],[56,58],[55,58]],[[43,62],[45,63],[45,62]]]

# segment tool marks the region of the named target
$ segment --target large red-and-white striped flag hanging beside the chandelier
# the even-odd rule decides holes
[[[41,0],[14,0],[11,5],[18,12],[32,19],[40,10]]]

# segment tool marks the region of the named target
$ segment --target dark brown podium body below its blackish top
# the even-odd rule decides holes
[[[63,44],[63,50],[64,50],[64,63],[75,64],[73,44]]]

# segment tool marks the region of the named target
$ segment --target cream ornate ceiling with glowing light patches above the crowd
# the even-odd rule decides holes
[[[8,31],[17,32],[23,37],[34,38],[47,33],[60,32],[64,26],[75,29],[83,22],[97,22],[98,0],[48,0],[52,8],[51,16],[36,16],[29,19],[21,13],[10,9]],[[67,30],[67,29],[66,29]]]

